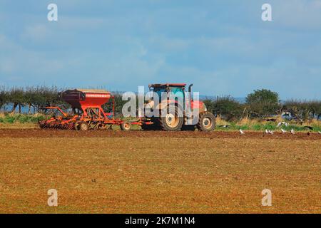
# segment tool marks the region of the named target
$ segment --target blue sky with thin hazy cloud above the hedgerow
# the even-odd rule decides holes
[[[58,5],[58,21],[47,6]],[[261,19],[264,3],[272,20]],[[321,98],[320,0],[0,0],[0,85]]]

